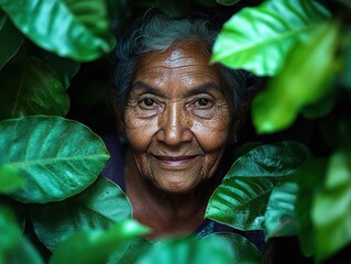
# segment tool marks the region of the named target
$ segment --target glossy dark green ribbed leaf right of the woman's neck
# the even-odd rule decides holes
[[[309,156],[305,145],[293,141],[255,147],[234,162],[205,217],[240,230],[263,229],[273,188]]]

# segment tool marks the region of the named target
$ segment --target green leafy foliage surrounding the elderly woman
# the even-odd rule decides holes
[[[206,217],[263,229],[266,239],[297,234],[317,263],[350,246],[350,3],[255,2],[0,0],[0,263],[46,261],[23,235],[25,222],[51,251],[51,263],[262,263],[235,234],[143,240],[146,229],[131,220],[125,195],[99,176],[109,157],[103,142],[65,118],[74,77],[108,55],[133,8],[150,7],[175,18],[195,6],[244,7],[224,24],[211,62],[268,77],[251,109],[259,134],[281,133],[307,118],[317,123],[309,134],[327,150],[319,155],[317,148],[314,158],[293,141],[235,150],[238,160]],[[78,100],[103,97],[106,85],[87,78],[76,84]],[[308,143],[315,151],[315,141]],[[95,258],[86,254],[91,251]]]

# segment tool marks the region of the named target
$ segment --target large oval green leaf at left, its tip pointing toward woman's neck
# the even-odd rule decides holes
[[[109,154],[100,138],[76,121],[26,117],[0,122],[0,164],[14,166],[25,185],[11,194],[22,202],[48,202],[91,185]]]

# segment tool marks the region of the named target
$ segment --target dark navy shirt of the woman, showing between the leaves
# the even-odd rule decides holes
[[[105,144],[110,153],[108,161],[101,175],[111,179],[125,193],[124,183],[124,163],[127,145],[118,141],[118,136],[109,134],[102,136]],[[218,223],[211,219],[204,219],[202,223],[195,230],[194,234],[197,238],[204,238],[210,233],[230,232],[238,233],[250,240],[262,253],[264,252],[265,242],[264,233],[261,230],[241,231],[229,226]]]

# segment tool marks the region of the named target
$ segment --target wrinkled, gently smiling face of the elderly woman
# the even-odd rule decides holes
[[[232,95],[200,43],[150,52],[139,61],[124,129],[142,177],[187,193],[212,177],[230,136]]]

